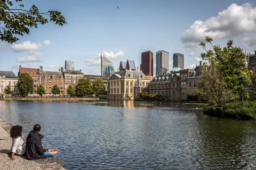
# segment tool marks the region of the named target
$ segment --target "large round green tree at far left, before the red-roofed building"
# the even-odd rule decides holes
[[[28,73],[21,73],[18,79],[18,88],[21,94],[28,95],[34,92],[34,80]]]

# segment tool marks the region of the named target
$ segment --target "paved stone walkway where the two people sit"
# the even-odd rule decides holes
[[[12,138],[10,129],[12,125],[7,124],[0,119],[0,169],[1,170],[66,170],[61,164],[63,162],[54,157],[40,159],[37,161],[27,160],[24,156],[15,155],[15,160],[10,161],[10,149],[12,147]]]

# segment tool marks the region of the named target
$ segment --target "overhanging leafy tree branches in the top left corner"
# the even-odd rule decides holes
[[[38,27],[38,23],[46,24],[49,17],[50,21],[60,26],[66,24],[65,17],[59,11],[39,12],[33,5],[30,9],[25,9],[20,3],[22,0],[16,0],[19,6],[14,7],[10,0],[0,0],[0,38],[9,43],[16,42],[19,38],[16,35],[23,36],[29,34],[29,27]],[[16,3],[15,3],[16,5]]]

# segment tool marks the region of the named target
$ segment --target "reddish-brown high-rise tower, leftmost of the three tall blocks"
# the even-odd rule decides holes
[[[151,51],[144,51],[141,53],[140,70],[146,76],[153,76],[153,53]]]

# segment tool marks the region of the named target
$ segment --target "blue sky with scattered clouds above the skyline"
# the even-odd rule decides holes
[[[206,35],[214,39],[214,44],[224,46],[233,39],[235,45],[247,52],[256,50],[255,0],[23,0],[22,3],[25,9],[35,5],[42,12],[61,11],[67,25],[61,27],[49,22],[31,28],[15,45],[0,42],[0,70],[13,69],[15,74],[19,65],[29,68],[41,65],[44,70],[57,71],[65,60],[74,60],[76,70],[100,75],[102,51],[109,54],[115,70],[121,60],[127,59],[134,60],[139,67],[141,52],[146,50],[154,53],[154,63],[156,51],[168,51],[170,68],[172,54],[182,53],[185,68],[193,68],[199,64],[203,52],[198,44]]]

